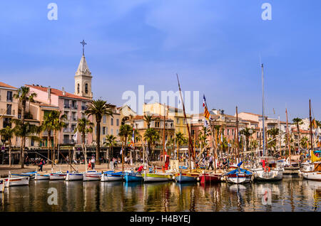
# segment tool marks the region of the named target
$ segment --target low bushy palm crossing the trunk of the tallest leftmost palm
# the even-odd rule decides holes
[[[13,122],[15,124],[14,134],[21,138],[21,144],[26,144],[26,138],[28,136],[31,139],[39,140],[39,136],[36,136],[36,134],[40,133],[41,127],[37,127],[29,122],[23,124],[20,119],[13,119]],[[23,156],[22,162],[20,158],[21,168],[24,168],[24,152],[22,152],[21,155]]]

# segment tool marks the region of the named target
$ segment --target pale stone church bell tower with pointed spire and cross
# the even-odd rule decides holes
[[[78,69],[75,75],[75,95],[93,99],[93,92],[91,92],[91,71],[88,68],[85,58],[85,41],[81,42],[83,45],[83,55],[78,65]]]

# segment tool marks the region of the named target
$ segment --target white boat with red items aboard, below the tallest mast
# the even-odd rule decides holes
[[[272,156],[260,157],[255,167],[251,169],[255,181],[280,181],[283,168],[280,162]]]

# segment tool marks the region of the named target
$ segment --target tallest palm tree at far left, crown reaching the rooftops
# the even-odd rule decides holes
[[[36,97],[36,93],[30,92],[30,88],[26,86],[21,86],[18,89],[18,92],[14,94],[15,99],[19,99],[21,103],[21,123],[24,125],[24,116],[26,112],[26,102],[34,102],[34,97]],[[25,137],[21,137],[21,155],[20,155],[20,164],[21,168],[24,168],[24,146],[25,146]]]

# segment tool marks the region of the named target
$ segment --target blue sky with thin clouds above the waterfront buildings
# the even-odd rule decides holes
[[[49,21],[47,5],[58,5]],[[263,3],[272,21],[263,21]],[[19,87],[39,84],[68,92],[81,59],[93,75],[93,95],[121,105],[126,90],[205,94],[227,114],[265,109],[285,120],[307,117],[309,98],[321,119],[321,1],[106,0],[1,1],[0,77]],[[202,100],[200,99],[200,103]],[[273,108],[275,115],[273,115]]]

